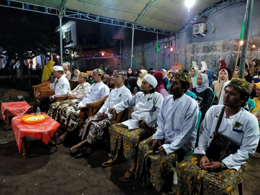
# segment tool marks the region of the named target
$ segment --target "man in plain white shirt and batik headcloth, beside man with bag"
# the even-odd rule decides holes
[[[147,185],[150,182],[159,192],[171,190],[172,164],[183,160],[195,147],[199,109],[197,102],[185,94],[190,82],[188,73],[175,73],[169,88],[172,95],[162,103],[156,132],[138,147],[135,177]]]

